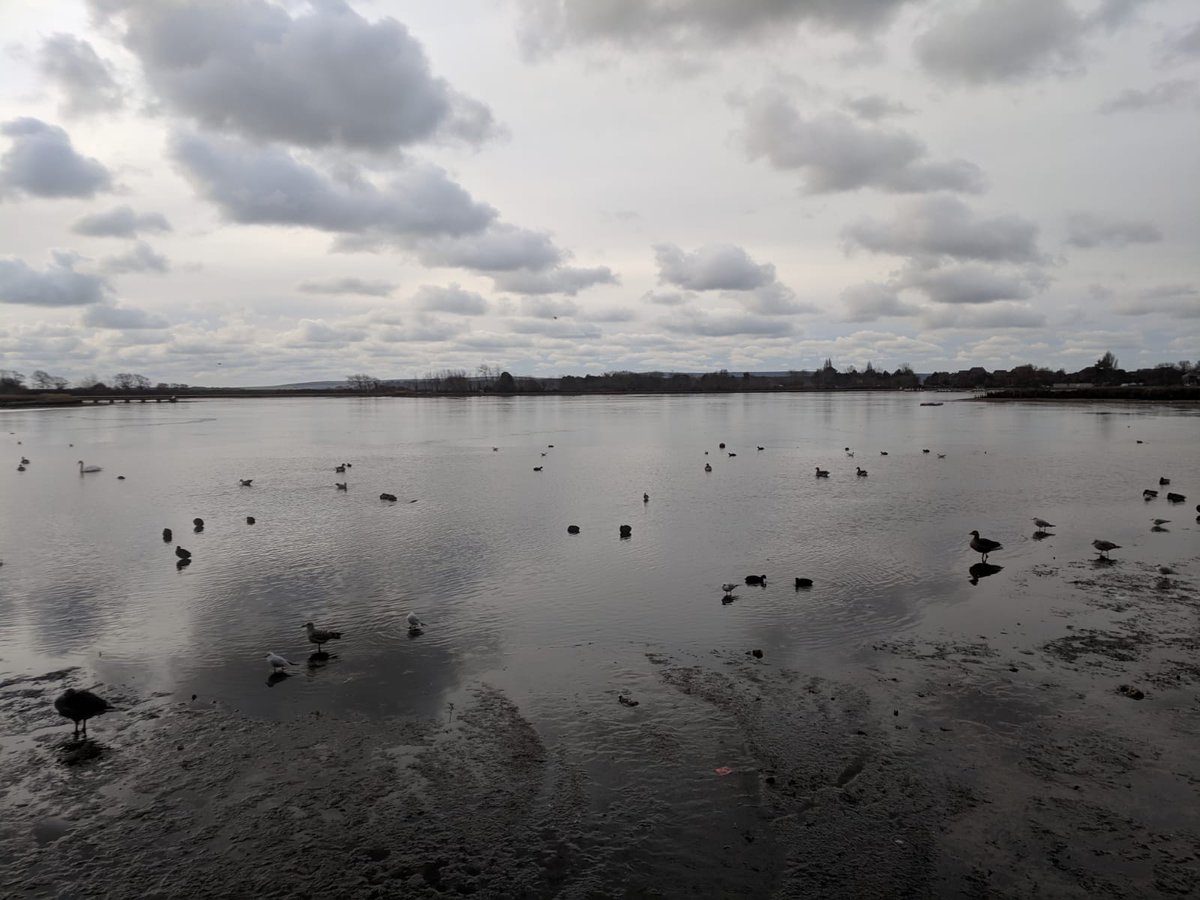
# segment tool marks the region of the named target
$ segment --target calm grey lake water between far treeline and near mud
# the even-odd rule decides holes
[[[1122,545],[1118,558],[1194,547],[1196,410],[923,398],[7,412],[0,672],[80,665],[107,683],[263,716],[436,715],[484,677],[535,706],[564,691],[611,701],[640,689],[647,652],[761,648],[850,666],[875,640],[971,629],[1003,606],[1012,578],[1094,556],[1093,538]],[[18,473],[22,455],[31,462]],[[79,458],[103,470],[80,475]],[[818,466],[828,479],[815,478]],[[1189,502],[1145,503],[1160,475],[1172,479],[1164,496]],[[1054,536],[1033,540],[1032,516],[1055,522]],[[1168,530],[1151,532],[1153,516],[1172,520]],[[990,558],[1003,568],[976,582],[972,529],[1004,545]],[[176,569],[176,544],[190,566]],[[766,587],[744,586],[750,574]],[[797,576],[812,588],[794,589]],[[739,584],[733,602],[722,582]],[[410,611],[428,623],[419,637],[407,634]],[[310,619],[344,637],[306,667]],[[301,664],[271,690],[268,650]]]

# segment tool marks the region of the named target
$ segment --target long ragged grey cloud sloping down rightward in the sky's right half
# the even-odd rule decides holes
[[[864,125],[841,113],[805,119],[784,96],[763,91],[746,107],[751,158],[797,170],[809,193],[874,187],[892,193],[978,192],[984,176],[966,160],[930,161],[928,148],[904,131]]]

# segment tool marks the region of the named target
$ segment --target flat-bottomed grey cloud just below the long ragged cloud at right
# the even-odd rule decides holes
[[[874,253],[1038,263],[1038,227],[1019,216],[980,218],[955,197],[919,197],[899,204],[892,222],[865,218],[846,240]]]

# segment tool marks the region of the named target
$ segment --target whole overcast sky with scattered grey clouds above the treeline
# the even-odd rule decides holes
[[[0,0],[0,367],[1200,359],[1194,0]]]

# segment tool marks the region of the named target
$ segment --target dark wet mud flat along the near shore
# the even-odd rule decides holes
[[[1037,637],[876,643],[839,678],[647,653],[638,706],[569,738],[478,684],[438,720],[283,722],[104,688],[124,712],[77,742],[49,701],[84,673],[11,678],[0,892],[1196,896],[1194,564],[1046,568],[1014,583],[1052,598]]]

